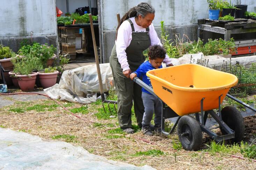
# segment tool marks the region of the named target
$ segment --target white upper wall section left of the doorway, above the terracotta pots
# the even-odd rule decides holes
[[[57,35],[55,0],[1,0],[0,38]]]

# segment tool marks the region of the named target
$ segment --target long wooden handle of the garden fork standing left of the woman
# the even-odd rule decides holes
[[[99,80],[99,83],[100,83],[100,92],[101,92],[101,98],[102,98],[102,97],[104,97],[104,91],[103,91],[103,86],[102,86],[101,69],[100,69],[99,57],[98,57],[98,52],[97,52],[97,47],[96,47],[96,41],[95,41],[95,35],[94,35],[92,14],[89,14],[89,19],[90,19],[90,26],[91,26],[92,37],[93,37],[94,56],[95,56],[95,61],[96,61],[96,67],[97,67],[97,73],[98,73],[98,80]],[[102,98],[102,102],[103,102],[104,99],[105,99],[105,98]]]

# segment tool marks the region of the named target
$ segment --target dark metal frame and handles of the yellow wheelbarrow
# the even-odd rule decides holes
[[[150,92],[152,95],[154,95],[155,97],[159,98],[153,91],[153,89],[151,87],[149,87],[146,83],[144,83],[143,81],[141,81],[139,78],[134,78],[133,79],[134,82],[136,82],[137,84],[139,84],[141,87],[143,87],[144,89],[146,89],[148,92]],[[216,140],[217,142],[221,141],[221,140],[227,140],[227,139],[232,139],[235,137],[235,132],[230,129],[227,124],[222,120],[221,117],[221,102],[220,102],[220,98],[223,95],[219,96],[219,115],[217,113],[215,113],[213,110],[210,111],[203,111],[203,104],[204,104],[204,99],[201,99],[201,122],[200,122],[200,118],[199,118],[199,113],[196,113],[196,120],[198,121],[201,130],[205,133],[207,133],[212,139]],[[235,97],[228,95],[227,96],[233,100],[235,100],[236,102],[248,107],[249,109],[253,110],[256,112],[256,109],[247,105],[246,103],[243,103],[241,100],[236,99]],[[160,99],[160,98],[159,98]],[[160,99],[161,100],[161,99]],[[162,100],[161,100],[162,101]],[[205,126],[206,120],[207,120],[207,116],[208,114],[210,114],[213,119],[216,120],[216,122],[219,123],[219,127],[221,127],[226,133],[227,135],[222,135],[219,136],[216,133],[214,133],[211,129],[207,128]],[[169,132],[166,132],[164,130],[164,120],[168,119],[168,118],[175,118],[178,117],[177,121],[174,123],[174,126],[171,128],[171,130]],[[169,106],[167,106],[163,101],[162,101],[162,122],[161,122],[161,129],[162,129],[162,133],[164,135],[170,135],[171,133],[173,133],[174,129],[176,128],[178,121],[181,119],[181,116],[179,116],[176,112],[174,112]],[[218,127],[218,128],[219,128]],[[213,129],[213,128],[212,128]]]

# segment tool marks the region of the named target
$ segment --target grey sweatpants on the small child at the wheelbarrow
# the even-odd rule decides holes
[[[148,126],[152,120],[153,113],[155,113],[155,125],[161,125],[162,102],[153,95],[142,92],[141,95],[145,112],[143,114],[142,126]]]

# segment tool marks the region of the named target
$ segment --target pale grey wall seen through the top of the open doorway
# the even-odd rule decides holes
[[[90,0],[91,8],[97,8],[97,0]],[[56,6],[63,12],[61,16],[65,16],[67,13],[67,5],[66,0],[56,0]],[[88,7],[88,0],[69,0],[68,8],[70,13],[74,13],[76,9],[81,7]]]

